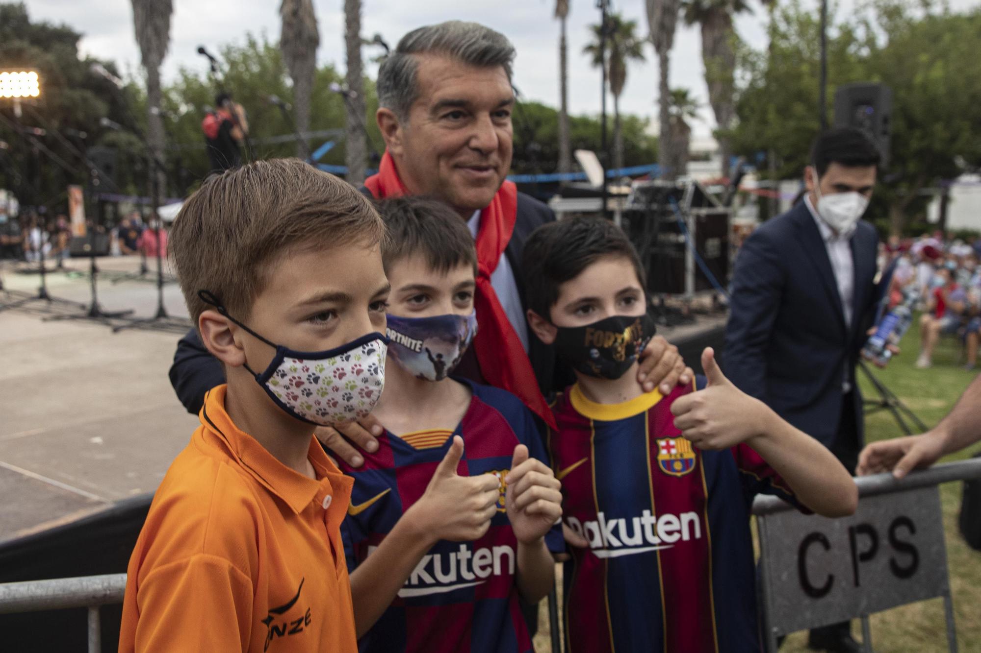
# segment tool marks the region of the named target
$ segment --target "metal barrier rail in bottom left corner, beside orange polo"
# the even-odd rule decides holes
[[[123,602],[126,574],[0,583],[0,614],[88,608],[88,653],[102,652],[99,607]]]

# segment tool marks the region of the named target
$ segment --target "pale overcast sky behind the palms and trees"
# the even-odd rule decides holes
[[[801,0],[804,7],[815,7],[816,0]],[[977,6],[981,0],[951,0],[954,9]],[[594,0],[572,0],[569,15],[569,103],[575,114],[599,112],[599,71],[582,54],[591,39],[589,25],[597,22]],[[644,0],[614,0],[614,11],[638,21],[639,33],[647,32]],[[754,14],[738,18],[736,28],[752,47],[766,42],[765,13],[758,0],[750,0]],[[832,0],[834,4],[834,0]],[[841,14],[854,0],[840,0]],[[138,73],[139,51],[133,37],[129,0],[26,0],[32,20],[66,23],[80,31],[80,48],[103,59],[116,61],[130,74]],[[247,32],[265,32],[271,40],[280,34],[279,0],[174,0],[171,48],[164,61],[164,79],[174,78],[181,67],[204,73],[207,61],[197,54],[197,46],[212,51],[217,46],[240,43]],[[379,32],[394,46],[406,31],[457,19],[489,25],[508,36],[518,57],[514,83],[528,98],[558,106],[558,23],[552,18],[553,0],[363,0],[362,34],[368,38]],[[320,26],[318,59],[344,69],[343,2],[314,0]],[[816,9],[815,9],[816,10]],[[375,48],[365,48],[367,62]],[[645,49],[647,61],[628,69],[627,86],[621,97],[621,110],[656,121],[657,65],[651,46]],[[374,77],[377,66],[368,64]],[[699,135],[710,133],[714,122],[707,106],[707,93],[701,63],[701,38],[697,27],[680,26],[675,36],[671,60],[671,86],[687,87],[702,103],[700,120],[694,127]],[[612,111],[612,104],[608,105]]]

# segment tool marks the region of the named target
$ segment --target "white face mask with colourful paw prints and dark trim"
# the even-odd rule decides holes
[[[388,338],[368,333],[327,351],[294,351],[238,322],[207,290],[198,296],[245,331],[276,349],[266,371],[255,377],[276,405],[303,422],[321,427],[356,422],[375,408],[385,386]]]

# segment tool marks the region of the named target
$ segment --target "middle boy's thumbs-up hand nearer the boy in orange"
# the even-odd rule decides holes
[[[455,435],[426,492],[406,511],[419,532],[433,543],[480,539],[497,513],[500,481],[490,474],[461,477],[457,468],[462,457],[463,438]]]

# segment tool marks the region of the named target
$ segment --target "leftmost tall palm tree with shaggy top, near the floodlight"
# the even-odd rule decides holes
[[[151,195],[154,206],[159,205],[165,177],[153,161],[163,162],[164,122],[160,115],[160,65],[171,44],[171,0],[131,0],[132,23],[139,45],[139,56],[146,70],[146,141],[150,148],[148,170],[153,182]]]

